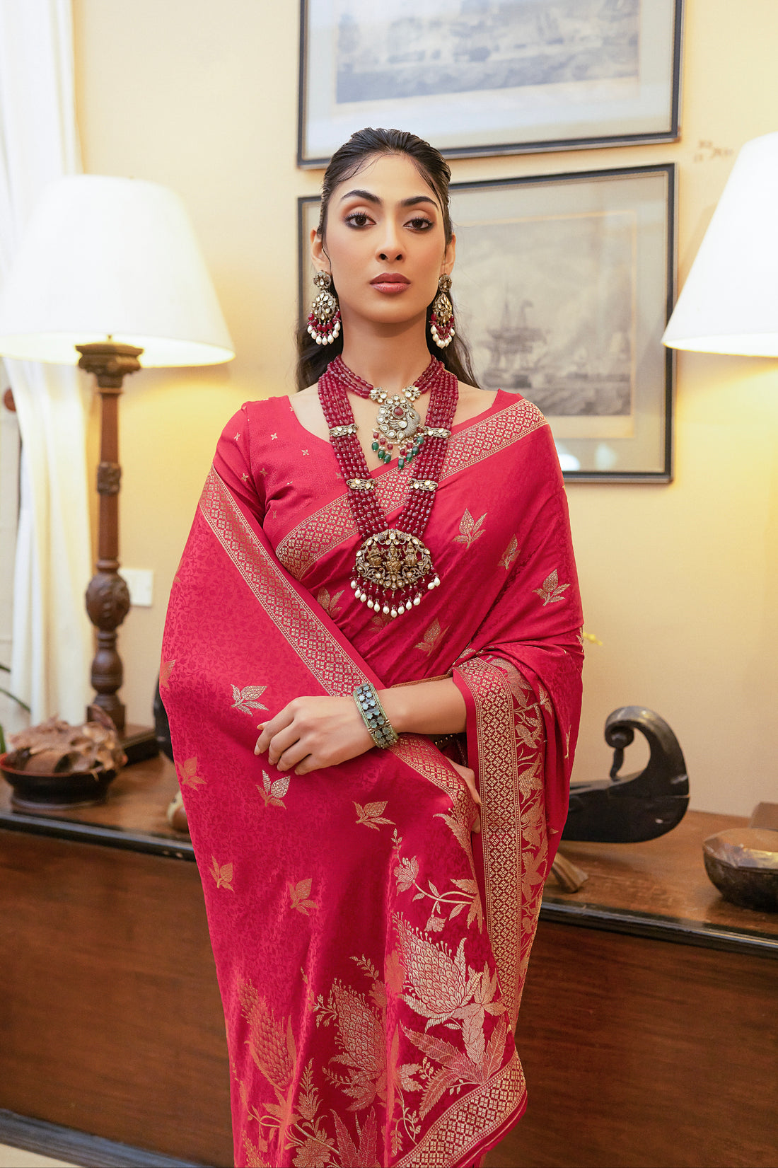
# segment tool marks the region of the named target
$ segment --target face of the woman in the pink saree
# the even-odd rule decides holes
[[[454,259],[440,204],[404,154],[375,155],[334,188],[325,238],[312,232],[311,250],[315,267],[332,273],[346,327],[356,318],[423,319]]]

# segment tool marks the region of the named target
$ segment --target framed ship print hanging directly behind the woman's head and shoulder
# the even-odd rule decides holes
[[[452,183],[452,296],[479,385],[522,394],[551,426],[567,479],[668,482],[675,167]],[[299,200],[300,312],[311,228]]]

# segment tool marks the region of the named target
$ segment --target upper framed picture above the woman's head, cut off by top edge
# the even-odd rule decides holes
[[[362,126],[449,158],[673,141],[683,0],[301,0],[298,165]]]

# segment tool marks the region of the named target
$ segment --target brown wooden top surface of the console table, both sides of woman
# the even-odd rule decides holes
[[[189,837],[174,830],[165,815],[176,791],[175,769],[161,755],[125,767],[104,804],[72,811],[14,811],[11,787],[0,779],[0,829],[193,861]],[[778,957],[778,913],[753,912],[722,899],[702,862],[703,840],[745,822],[735,815],[690,811],[667,835],[646,843],[564,841],[562,854],[589,880],[570,894],[550,877],[541,919]]]

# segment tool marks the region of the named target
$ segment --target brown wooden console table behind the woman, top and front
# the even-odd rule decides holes
[[[14,813],[1,784],[0,1108],[222,1168],[224,1029],[174,791],[162,758],[56,816]],[[516,1036],[529,1108],[491,1168],[778,1163],[778,917],[702,867],[738,822],[563,846],[590,880],[547,890]]]

